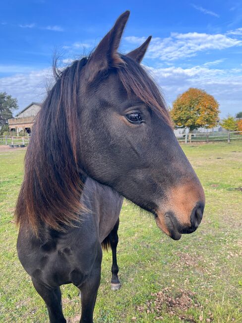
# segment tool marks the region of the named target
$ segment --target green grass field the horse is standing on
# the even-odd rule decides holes
[[[204,219],[172,241],[153,218],[124,202],[118,245],[121,290],[110,290],[112,253],[104,252],[95,323],[242,322],[242,141],[182,146],[206,194]],[[0,322],[48,322],[44,302],[16,255],[12,221],[25,151],[0,152]],[[68,322],[78,291],[61,287]]]

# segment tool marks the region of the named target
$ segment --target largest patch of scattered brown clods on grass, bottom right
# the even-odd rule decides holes
[[[184,289],[177,290],[176,294],[172,293],[172,288],[166,287],[158,293],[152,293],[153,300],[148,301],[145,306],[137,306],[139,313],[146,312],[156,315],[155,320],[162,321],[162,315],[169,315],[171,317],[177,316],[183,322],[196,323],[197,319],[186,312],[191,308],[200,308],[201,316],[199,321],[203,321],[203,307],[198,303],[195,293]],[[133,320],[135,321],[135,320]],[[212,322],[212,313],[209,313],[209,318],[205,322]]]

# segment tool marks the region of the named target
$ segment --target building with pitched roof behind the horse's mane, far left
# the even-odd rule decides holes
[[[31,134],[34,119],[40,111],[41,104],[32,102],[22,111],[20,111],[15,118],[8,119],[9,131],[15,135],[19,135],[20,132],[24,131],[27,134]]]

